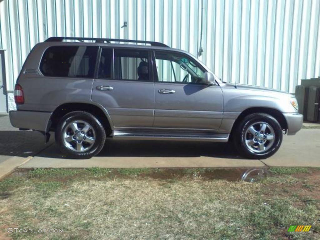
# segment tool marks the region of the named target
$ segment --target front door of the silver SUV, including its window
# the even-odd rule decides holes
[[[155,51],[156,128],[216,130],[222,121],[223,97],[218,85],[203,83],[204,69],[190,56]]]

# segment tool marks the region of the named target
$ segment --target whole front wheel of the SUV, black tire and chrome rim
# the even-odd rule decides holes
[[[273,116],[253,113],[236,126],[233,143],[241,155],[264,159],[276,153],[282,143],[282,135],[282,128]]]

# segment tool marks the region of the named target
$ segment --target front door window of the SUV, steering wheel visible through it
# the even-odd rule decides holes
[[[190,57],[175,52],[155,51],[155,58],[158,82],[204,83],[204,70]]]

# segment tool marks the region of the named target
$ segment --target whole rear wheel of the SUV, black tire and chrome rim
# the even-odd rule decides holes
[[[63,116],[58,123],[55,140],[66,156],[86,159],[101,151],[106,140],[106,132],[92,114],[74,111]]]

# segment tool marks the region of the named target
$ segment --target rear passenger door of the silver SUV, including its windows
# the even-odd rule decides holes
[[[151,53],[139,48],[102,48],[92,100],[108,111],[115,129],[152,127],[154,82]]]

